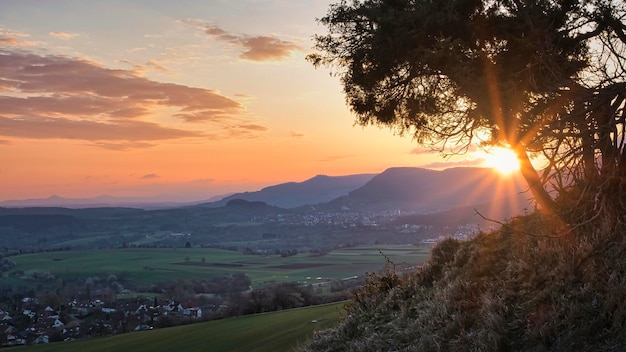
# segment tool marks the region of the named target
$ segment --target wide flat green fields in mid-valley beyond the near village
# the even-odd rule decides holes
[[[381,254],[381,251],[384,255]],[[342,279],[382,270],[388,257],[396,264],[415,265],[428,256],[428,248],[413,245],[355,247],[334,250],[323,256],[300,253],[279,255],[244,255],[241,252],[213,248],[134,248],[110,250],[75,250],[24,254],[11,257],[26,275],[50,272],[64,279],[85,279],[124,273],[134,285],[176,279],[209,279],[246,273],[253,286],[264,283],[315,283],[322,279]],[[9,272],[10,274],[10,272]]]

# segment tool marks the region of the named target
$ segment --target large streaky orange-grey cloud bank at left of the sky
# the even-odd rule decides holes
[[[0,106],[0,136],[85,140],[114,150],[231,137],[233,129],[267,130],[243,119],[243,105],[215,90],[157,82],[76,58],[1,49]],[[215,131],[150,122],[165,111],[182,121],[212,123]]]

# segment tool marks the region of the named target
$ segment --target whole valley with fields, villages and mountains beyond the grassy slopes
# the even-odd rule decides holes
[[[487,169],[394,168],[163,209],[0,208],[1,343],[348,300],[368,273],[411,272],[440,239],[493,227],[482,214],[519,214],[520,192]]]

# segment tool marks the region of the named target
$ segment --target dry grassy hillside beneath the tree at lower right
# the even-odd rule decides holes
[[[626,231],[539,214],[370,276],[317,351],[624,351]]]

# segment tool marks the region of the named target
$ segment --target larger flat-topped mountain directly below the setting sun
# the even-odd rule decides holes
[[[529,206],[530,195],[523,193],[525,190],[521,175],[502,175],[487,168],[390,168],[323,208],[426,213],[480,204],[486,211],[519,211]]]

